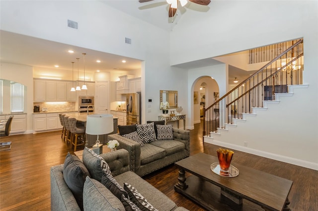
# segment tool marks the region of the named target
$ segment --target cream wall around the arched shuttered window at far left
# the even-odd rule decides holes
[[[0,79],[15,81],[23,84],[26,87],[26,105],[24,107],[27,113],[27,131],[26,133],[33,132],[33,70],[30,66],[17,65],[17,64],[0,64]],[[23,74],[21,74],[23,73]],[[4,97],[3,97],[4,98]],[[4,110],[3,110],[4,111]]]

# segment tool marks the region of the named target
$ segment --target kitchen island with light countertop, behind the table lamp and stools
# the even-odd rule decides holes
[[[91,114],[98,114],[98,113],[89,113],[89,115],[91,115]],[[68,116],[76,118],[77,121],[83,122],[84,125],[86,125],[87,113],[70,113],[70,114],[68,114]],[[117,133],[118,117],[113,116],[113,119],[114,119],[114,125],[113,125],[114,130],[108,134]],[[107,140],[108,134],[100,134],[99,135],[99,141],[101,144],[106,144],[108,142],[108,140]],[[88,148],[91,148],[95,144],[96,140],[97,140],[97,135],[89,135],[86,133],[85,146],[87,146]]]

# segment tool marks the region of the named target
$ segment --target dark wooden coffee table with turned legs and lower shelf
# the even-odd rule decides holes
[[[175,163],[179,168],[174,190],[210,211],[290,211],[288,194],[293,181],[231,163],[237,177],[211,170],[218,158],[198,153]],[[191,173],[185,177],[185,171]]]

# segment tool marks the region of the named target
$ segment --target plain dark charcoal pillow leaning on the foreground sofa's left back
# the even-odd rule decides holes
[[[90,174],[84,164],[78,157],[68,152],[64,161],[63,177],[81,210],[83,210],[83,187],[86,176],[90,177]]]

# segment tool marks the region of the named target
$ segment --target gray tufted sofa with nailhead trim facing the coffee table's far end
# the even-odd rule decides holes
[[[108,141],[117,140],[117,148],[129,152],[130,169],[142,177],[190,155],[190,131],[172,129],[173,140],[155,140],[144,146],[118,133],[108,135]]]

